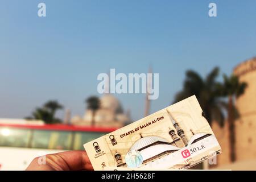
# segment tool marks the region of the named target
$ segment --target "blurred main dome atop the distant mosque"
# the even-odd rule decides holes
[[[111,94],[105,94],[103,97],[101,97],[100,102],[102,109],[111,109],[113,111],[117,111],[121,108],[117,98]]]

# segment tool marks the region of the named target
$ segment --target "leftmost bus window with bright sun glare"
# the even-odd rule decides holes
[[[0,146],[28,147],[30,135],[30,130],[0,127]]]

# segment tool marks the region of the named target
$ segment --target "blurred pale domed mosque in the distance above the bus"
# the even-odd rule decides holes
[[[93,112],[90,109],[85,110],[84,117],[75,116],[71,122],[73,125],[92,125]],[[122,127],[125,123],[130,122],[129,114],[123,113],[120,102],[112,96],[105,94],[100,98],[100,109],[96,110],[94,116],[95,126],[101,127]]]

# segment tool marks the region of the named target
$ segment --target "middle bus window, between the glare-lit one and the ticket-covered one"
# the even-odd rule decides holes
[[[34,130],[31,147],[70,150],[72,133],[69,131]]]

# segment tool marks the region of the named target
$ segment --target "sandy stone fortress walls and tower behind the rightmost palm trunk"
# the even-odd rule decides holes
[[[237,65],[234,75],[237,75],[240,81],[247,82],[245,93],[236,100],[236,107],[240,113],[240,118],[235,121],[236,162],[230,166],[227,122],[223,128],[213,122],[212,130],[223,150],[217,157],[217,167],[229,164],[228,168],[248,169],[248,166],[251,166],[251,169],[256,169],[256,57]],[[254,165],[251,165],[253,160]]]

